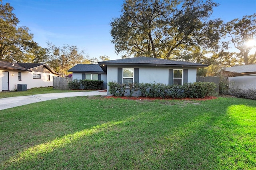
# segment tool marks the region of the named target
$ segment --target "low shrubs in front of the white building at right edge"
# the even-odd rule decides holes
[[[252,99],[256,100],[256,90],[255,89],[227,89],[222,92],[222,94],[225,95],[232,95],[235,97],[239,98],[244,98],[244,99]]]

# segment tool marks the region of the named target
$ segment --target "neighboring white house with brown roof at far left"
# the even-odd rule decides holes
[[[14,91],[18,84],[27,89],[52,86],[52,77],[59,75],[46,64],[0,61],[0,91]]]

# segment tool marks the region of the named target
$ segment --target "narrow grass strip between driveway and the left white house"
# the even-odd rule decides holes
[[[79,90],[82,91],[92,91],[92,90]],[[53,87],[39,87],[28,89],[27,91],[3,91],[0,92],[0,99],[6,97],[17,97],[17,96],[27,96],[27,95],[38,95],[45,93],[66,93],[66,92],[76,92],[74,90],[56,90]]]

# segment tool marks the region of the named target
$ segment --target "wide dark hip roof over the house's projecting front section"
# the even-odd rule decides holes
[[[186,61],[174,61],[151,57],[134,57],[126,59],[116,59],[98,62],[100,65],[159,65],[159,66],[188,66],[188,67],[207,67],[200,63],[190,63]]]

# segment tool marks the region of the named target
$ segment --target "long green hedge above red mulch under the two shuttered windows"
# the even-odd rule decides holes
[[[162,83],[130,83],[129,87],[116,82],[108,82],[108,91],[113,96],[142,96],[160,98],[203,98],[214,94],[215,83],[196,82],[184,85]]]

